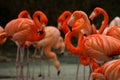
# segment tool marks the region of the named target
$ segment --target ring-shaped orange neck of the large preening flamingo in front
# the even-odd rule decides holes
[[[71,42],[71,38],[72,37],[78,37],[78,43],[77,43],[77,47],[75,47],[72,42]],[[65,35],[65,44],[66,44],[66,48],[68,50],[70,50],[70,52],[72,54],[75,55],[80,55],[83,52],[83,47],[82,47],[82,40],[83,40],[83,35],[77,31],[72,31],[72,32],[68,32]]]

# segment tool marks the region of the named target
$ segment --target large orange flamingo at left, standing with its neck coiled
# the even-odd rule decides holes
[[[5,32],[7,37],[11,38],[18,46],[17,57],[16,57],[16,67],[18,67],[18,57],[20,52],[20,61],[21,61],[21,79],[23,79],[23,56],[24,56],[24,44],[25,41],[39,41],[44,38],[45,32],[44,27],[39,26],[37,21],[38,16],[43,16],[41,14],[34,13],[33,20],[28,18],[18,18],[13,19],[8,22],[5,26]],[[45,15],[44,15],[45,16]],[[19,51],[20,50],[20,51]]]

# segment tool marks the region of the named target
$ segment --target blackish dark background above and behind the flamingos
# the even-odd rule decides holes
[[[48,25],[57,26],[58,16],[65,10],[71,12],[83,10],[88,15],[95,6],[104,8],[109,14],[110,21],[120,16],[120,0],[0,0],[0,25],[5,25],[17,18],[20,11],[26,9],[31,16],[36,10],[43,11],[49,20]],[[16,53],[16,45],[11,41],[0,46],[1,53]]]

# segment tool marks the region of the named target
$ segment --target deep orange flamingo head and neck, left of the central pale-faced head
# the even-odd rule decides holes
[[[69,31],[67,22],[70,18],[72,13],[70,11],[64,11],[59,17],[58,17],[58,29],[62,30],[64,34],[66,34]]]

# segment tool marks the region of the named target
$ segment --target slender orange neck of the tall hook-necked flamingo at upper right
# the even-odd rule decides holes
[[[103,17],[104,17],[104,20],[103,20],[102,25],[100,26],[100,29],[99,29],[99,33],[100,33],[100,34],[103,33],[103,31],[104,31],[104,29],[107,27],[108,21],[109,21],[109,16],[108,16],[108,14],[107,14],[106,11],[102,10],[102,11],[101,11],[101,14],[102,14]]]

